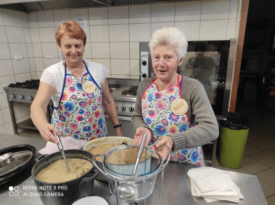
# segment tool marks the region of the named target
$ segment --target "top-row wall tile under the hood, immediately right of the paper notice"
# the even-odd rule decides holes
[[[105,8],[90,8],[89,25],[108,25],[108,9]]]

